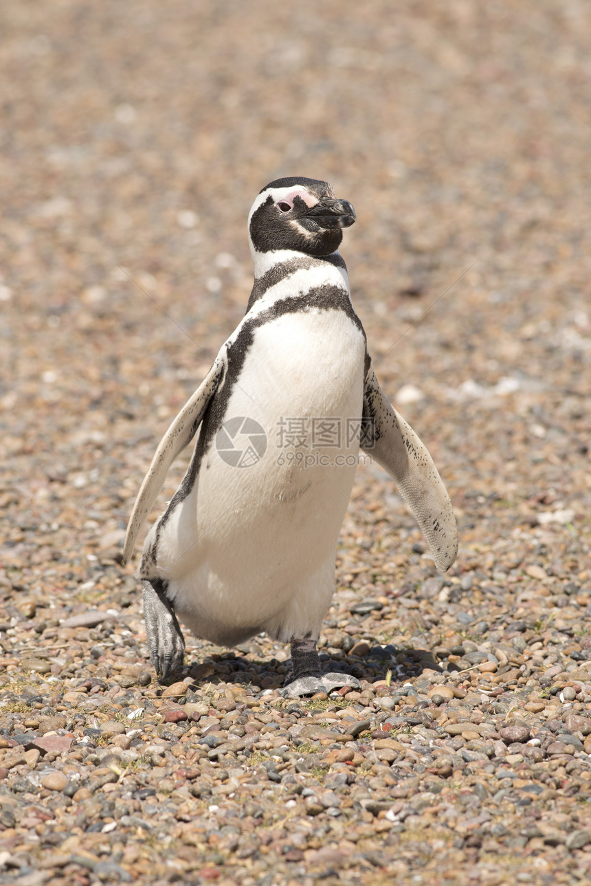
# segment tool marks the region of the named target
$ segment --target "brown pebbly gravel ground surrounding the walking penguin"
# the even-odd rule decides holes
[[[589,882],[587,4],[0,15],[0,882]],[[188,638],[160,686],[121,565],[278,175],[353,201],[377,374],[461,533],[436,574],[360,467],[321,645],[362,691],[293,702],[264,636]]]

